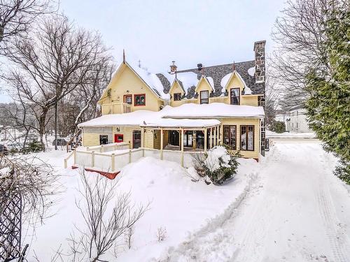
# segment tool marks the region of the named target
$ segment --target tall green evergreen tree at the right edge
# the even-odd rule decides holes
[[[332,6],[326,15],[323,67],[307,74],[307,115],[325,150],[340,159],[335,174],[350,184],[350,12]]]

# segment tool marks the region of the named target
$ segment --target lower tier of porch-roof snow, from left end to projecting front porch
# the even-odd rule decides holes
[[[221,124],[216,119],[165,119],[165,111],[137,110],[125,114],[102,115],[87,122],[78,124],[84,126],[144,126],[144,127],[174,127],[174,128],[200,128]]]

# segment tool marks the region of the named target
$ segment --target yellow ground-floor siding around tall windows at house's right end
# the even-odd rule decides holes
[[[259,159],[260,156],[260,119],[244,119],[244,118],[235,118],[235,119],[219,119],[221,121],[221,143],[223,142],[223,126],[224,125],[236,125],[237,126],[237,150],[239,150],[241,145],[240,131],[241,125],[253,125],[254,126],[254,151],[244,151],[241,150],[240,154],[242,157]]]

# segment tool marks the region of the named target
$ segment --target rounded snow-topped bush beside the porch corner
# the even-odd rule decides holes
[[[219,185],[231,180],[237,173],[239,154],[230,154],[223,146],[216,146],[207,154],[196,155],[195,170],[209,184]],[[209,178],[210,182],[206,178]]]

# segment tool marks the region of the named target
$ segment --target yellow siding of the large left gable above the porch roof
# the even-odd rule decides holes
[[[120,112],[120,105],[111,105],[111,103],[124,103],[124,95],[132,94],[131,110],[160,110],[163,101],[154,94],[149,87],[139,78],[137,74],[126,64],[113,77],[109,83],[108,89],[111,89],[111,98],[104,94],[101,100],[102,114],[108,112]],[[134,94],[146,94],[146,105],[134,106]]]

